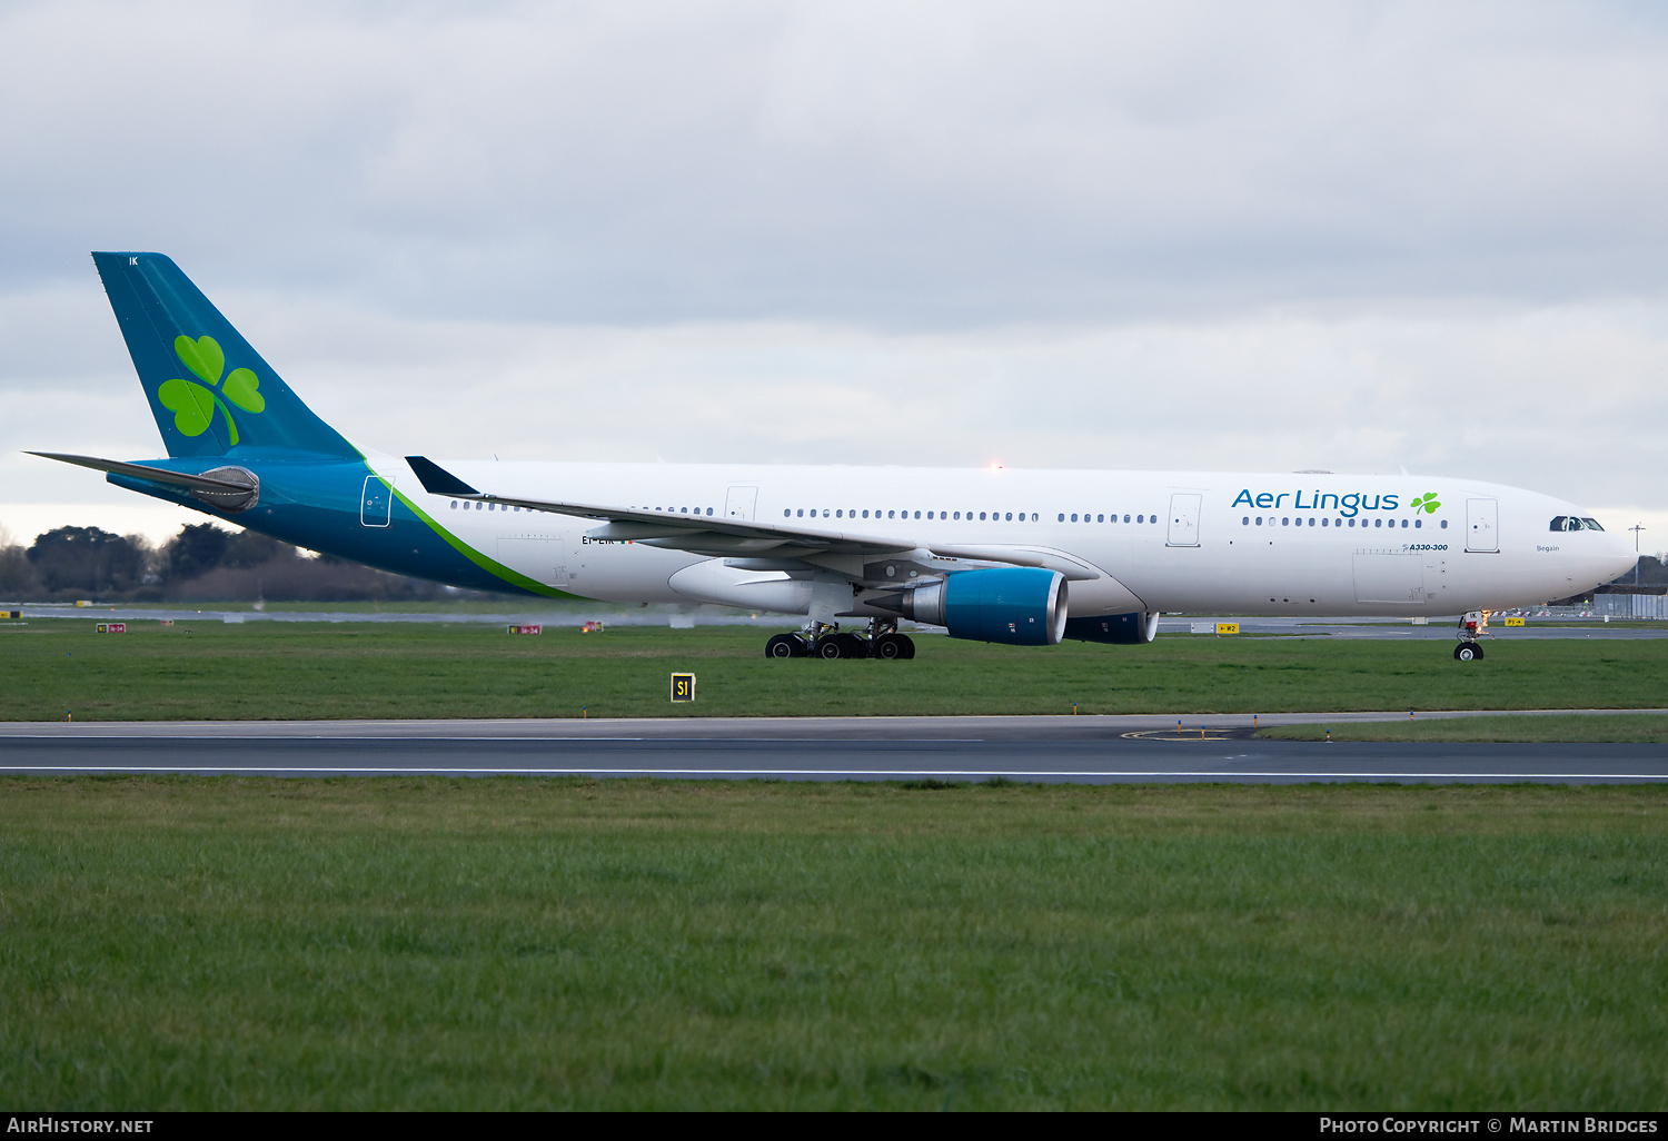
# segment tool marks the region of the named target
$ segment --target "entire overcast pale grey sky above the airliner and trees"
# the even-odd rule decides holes
[[[0,3],[0,525],[200,515],[87,257],[390,452],[1334,469],[1668,545],[1668,8]]]

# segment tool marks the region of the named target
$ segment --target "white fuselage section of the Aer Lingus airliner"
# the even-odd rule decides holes
[[[602,525],[595,519],[430,495],[402,460],[370,459],[455,539],[545,586],[612,602],[804,612],[804,591],[789,589],[791,576],[782,570],[736,569],[726,559],[642,542],[595,542],[587,535]],[[914,549],[1063,552],[1101,574],[1071,582],[1073,617],[1128,611],[1456,614],[1578,594],[1635,562],[1616,534],[1550,530],[1555,517],[1586,514],[1575,504],[1470,479],[722,464],[444,467],[502,497],[679,519],[701,512],[819,535],[894,539]],[[871,572],[886,574],[872,565]]]

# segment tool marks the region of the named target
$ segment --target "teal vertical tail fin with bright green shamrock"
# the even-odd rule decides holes
[[[162,254],[93,254],[168,455],[359,459]]]

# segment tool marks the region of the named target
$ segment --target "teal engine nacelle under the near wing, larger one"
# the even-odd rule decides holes
[[[907,591],[904,617],[942,626],[951,637],[1007,646],[1058,646],[1066,632],[1066,576],[1014,567],[962,570]]]

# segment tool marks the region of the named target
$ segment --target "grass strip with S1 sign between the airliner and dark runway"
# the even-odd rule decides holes
[[[467,624],[0,627],[10,721],[1281,712],[1655,707],[1668,639],[1490,644],[1163,637],[1022,649],[917,639],[912,662],[766,661],[766,631],[509,636]],[[694,671],[694,706],[667,674]]]

